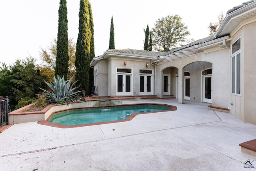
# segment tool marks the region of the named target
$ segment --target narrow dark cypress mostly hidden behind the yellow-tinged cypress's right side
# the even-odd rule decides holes
[[[92,6],[91,3],[89,3],[89,17],[90,17],[90,30],[92,33],[92,38],[91,38],[91,42],[90,42],[90,62],[92,61],[92,59],[95,57],[95,52],[94,52],[94,24],[93,24],[93,17],[92,17]],[[94,84],[93,82],[93,68],[90,68],[90,72],[89,72],[89,88],[92,87],[92,85]]]

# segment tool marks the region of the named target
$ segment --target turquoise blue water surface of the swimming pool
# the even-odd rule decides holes
[[[140,106],[68,111],[66,113],[53,115],[50,118],[49,122],[62,125],[79,125],[86,123],[122,120],[126,119],[126,117],[130,116],[132,113],[144,113],[164,110],[170,110],[170,108],[156,106]]]

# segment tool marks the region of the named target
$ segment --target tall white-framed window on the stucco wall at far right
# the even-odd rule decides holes
[[[241,38],[232,44],[232,93],[241,94]]]

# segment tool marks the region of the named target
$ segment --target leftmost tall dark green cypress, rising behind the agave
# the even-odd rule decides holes
[[[68,60],[67,2],[66,0],[60,0],[55,76],[60,75],[67,79]]]

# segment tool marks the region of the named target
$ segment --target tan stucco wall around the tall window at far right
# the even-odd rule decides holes
[[[241,95],[230,95],[230,103],[233,104],[230,105],[230,113],[238,119],[252,124],[256,124],[255,21],[256,16],[243,20],[231,34],[232,40],[230,42],[233,44],[241,37]]]

